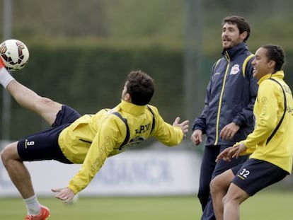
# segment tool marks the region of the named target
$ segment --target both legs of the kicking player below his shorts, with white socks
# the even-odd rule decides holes
[[[19,105],[36,112],[50,125],[54,122],[57,112],[62,108],[61,104],[48,98],[41,97],[13,79],[13,76],[4,68],[1,58],[0,83],[11,93]],[[37,219],[47,219],[47,217],[50,216],[50,211],[47,207],[41,206],[35,196],[30,173],[18,156],[17,142],[8,144],[8,146],[1,151],[1,160],[4,163],[11,181],[23,197],[30,219],[34,219],[33,216],[37,216]]]

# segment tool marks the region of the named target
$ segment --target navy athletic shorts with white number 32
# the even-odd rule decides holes
[[[235,175],[231,182],[250,196],[289,175],[282,168],[257,159],[248,159],[245,163],[235,166],[231,170]]]

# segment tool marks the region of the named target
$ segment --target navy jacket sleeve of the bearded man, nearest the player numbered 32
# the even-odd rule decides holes
[[[242,108],[241,112],[239,112],[233,120],[233,122],[240,127],[245,127],[246,125],[252,125],[254,123],[253,105],[258,93],[258,81],[253,77],[253,66],[251,62],[252,60],[246,66],[246,77],[249,80],[249,103],[245,108]]]

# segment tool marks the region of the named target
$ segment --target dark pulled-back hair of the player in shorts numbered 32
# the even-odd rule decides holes
[[[285,64],[285,52],[282,47],[278,45],[264,45],[262,48],[267,50],[265,55],[268,57],[268,60],[275,61],[275,71],[281,70]]]

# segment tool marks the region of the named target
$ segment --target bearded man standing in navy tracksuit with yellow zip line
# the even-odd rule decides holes
[[[222,160],[215,163],[220,151],[246,139],[253,131],[253,104],[258,86],[253,78],[253,54],[246,45],[249,33],[250,27],[243,18],[224,18],[223,57],[212,66],[205,108],[193,122],[193,143],[200,144],[202,134],[206,134],[198,192],[202,204],[202,219],[215,219],[209,197],[210,180],[219,173],[243,163],[247,158],[245,156],[231,162]]]

